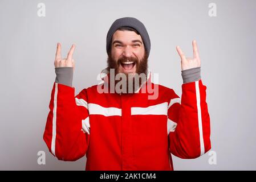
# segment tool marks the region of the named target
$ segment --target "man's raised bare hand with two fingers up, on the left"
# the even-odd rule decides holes
[[[57,44],[57,51],[56,51],[56,56],[55,56],[55,61],[54,61],[54,66],[55,68],[59,67],[72,67],[73,71],[75,69],[75,60],[73,59],[73,53],[75,50],[75,45],[72,44],[70,51],[67,54],[67,58],[62,59],[62,47],[61,44]]]

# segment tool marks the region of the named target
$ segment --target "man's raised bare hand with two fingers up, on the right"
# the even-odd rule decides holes
[[[186,57],[184,53],[181,51],[181,48],[179,46],[176,47],[178,55],[180,55],[180,58],[181,58],[182,71],[190,68],[201,67],[201,60],[199,57],[196,40],[193,40],[192,46],[193,46],[193,58]]]

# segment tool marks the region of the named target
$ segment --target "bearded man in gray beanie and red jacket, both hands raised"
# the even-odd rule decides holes
[[[115,20],[107,34],[103,82],[75,96],[75,45],[55,57],[56,78],[43,139],[59,160],[86,155],[86,170],[173,170],[172,155],[193,159],[211,148],[206,86],[196,41],[193,58],[180,47],[181,98],[153,83],[148,69],[151,42],[136,18]],[[153,96],[153,97],[152,97]]]

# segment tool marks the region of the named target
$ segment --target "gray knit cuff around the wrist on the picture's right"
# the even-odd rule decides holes
[[[194,82],[201,79],[201,67],[185,69],[181,71],[183,83]]]

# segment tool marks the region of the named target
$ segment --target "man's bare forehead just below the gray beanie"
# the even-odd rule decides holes
[[[124,43],[130,43],[132,40],[140,40],[142,42],[142,38],[140,35],[136,34],[134,31],[128,30],[117,30],[112,37],[112,42],[115,40],[120,40]]]

